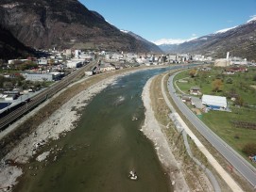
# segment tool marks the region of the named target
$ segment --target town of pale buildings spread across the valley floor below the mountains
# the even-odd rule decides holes
[[[0,113],[10,107],[25,103],[42,88],[47,88],[78,68],[95,62],[94,67],[85,75],[101,72],[111,72],[139,66],[156,66],[184,63],[214,64],[219,67],[255,66],[240,57],[220,58],[213,60],[211,56],[202,55],[155,55],[134,53],[113,53],[107,51],[95,52],[67,49],[44,51],[44,57],[16,58],[8,61],[1,60],[0,73]],[[227,69],[226,72],[234,72]]]

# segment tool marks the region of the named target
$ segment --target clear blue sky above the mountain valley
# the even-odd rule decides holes
[[[79,0],[119,29],[157,44],[183,41],[245,24],[256,0]]]

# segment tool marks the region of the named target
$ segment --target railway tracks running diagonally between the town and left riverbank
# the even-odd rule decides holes
[[[45,100],[52,97],[54,94],[59,92],[62,88],[66,88],[69,84],[71,84],[74,81],[74,79],[78,75],[80,75],[81,73],[87,70],[90,70],[94,65],[95,65],[95,62],[93,61],[92,63],[77,69],[77,71],[72,72],[71,74],[61,79],[59,82],[53,84],[51,87],[45,88],[45,90],[43,90],[36,96],[32,97],[30,102],[27,102],[26,104],[9,112],[8,115],[1,118],[0,120],[0,131],[3,131],[4,129],[6,129],[9,126],[9,124],[11,124],[13,121],[20,119],[28,111],[35,108],[39,104],[42,104]]]

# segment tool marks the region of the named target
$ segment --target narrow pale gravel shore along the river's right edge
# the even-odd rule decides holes
[[[159,159],[162,162],[166,171],[170,176],[171,184],[174,186],[175,191],[190,191],[182,172],[179,172],[179,162],[173,156],[167,142],[166,136],[162,134],[162,129],[155,119],[154,111],[151,107],[150,101],[150,84],[152,79],[149,79],[145,84],[143,90],[143,101],[145,105],[145,124],[142,128],[145,136],[153,141],[155,149],[158,153]]]

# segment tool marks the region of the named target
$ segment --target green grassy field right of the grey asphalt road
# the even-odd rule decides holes
[[[189,89],[193,86],[201,88],[203,94],[226,96],[231,112],[210,111],[203,113],[202,120],[216,133],[223,138],[234,150],[247,157],[247,154],[242,152],[247,143],[255,143],[256,145],[256,130],[247,129],[244,127],[235,127],[231,123],[232,120],[256,123],[256,81],[253,77],[256,75],[256,69],[248,69],[248,72],[237,72],[236,74],[223,74],[224,69],[213,68],[210,72],[197,72],[196,77],[191,77],[188,71],[180,72],[175,81],[179,88],[189,93]],[[228,79],[231,78],[231,83]],[[183,82],[179,82],[183,79]],[[221,79],[223,87],[221,91],[213,91],[213,81]],[[187,83],[185,83],[187,81]],[[242,98],[243,105],[236,106],[230,100],[230,94],[237,95]],[[256,152],[255,152],[256,154]],[[255,166],[255,164],[254,164]]]

